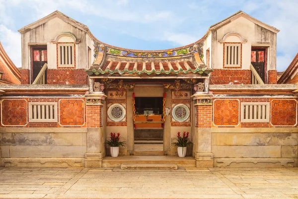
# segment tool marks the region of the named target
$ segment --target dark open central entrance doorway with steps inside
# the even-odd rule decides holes
[[[136,97],[134,155],[163,155],[163,98]]]

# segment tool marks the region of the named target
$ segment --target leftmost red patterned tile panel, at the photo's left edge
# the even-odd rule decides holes
[[[28,121],[27,100],[2,100],[1,123],[3,126],[26,126]]]

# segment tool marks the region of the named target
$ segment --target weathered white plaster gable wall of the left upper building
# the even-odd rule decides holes
[[[87,44],[93,52],[93,45],[90,45],[91,39],[86,39],[86,33],[73,25],[63,21],[60,18],[53,18],[36,28],[25,32],[21,35],[22,40],[22,69],[30,69],[30,44],[32,45],[47,45],[48,50],[48,68],[57,68],[57,52],[56,44],[52,43],[59,34],[69,32],[75,35],[80,43],[75,46],[76,55],[76,69],[84,69],[87,66]]]

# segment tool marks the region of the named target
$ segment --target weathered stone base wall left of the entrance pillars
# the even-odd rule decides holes
[[[86,152],[86,128],[2,128],[0,133],[2,167],[83,167]]]

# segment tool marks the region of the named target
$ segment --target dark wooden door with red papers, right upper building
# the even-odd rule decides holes
[[[266,77],[266,49],[252,48],[251,49],[251,65],[255,68],[263,82]]]

